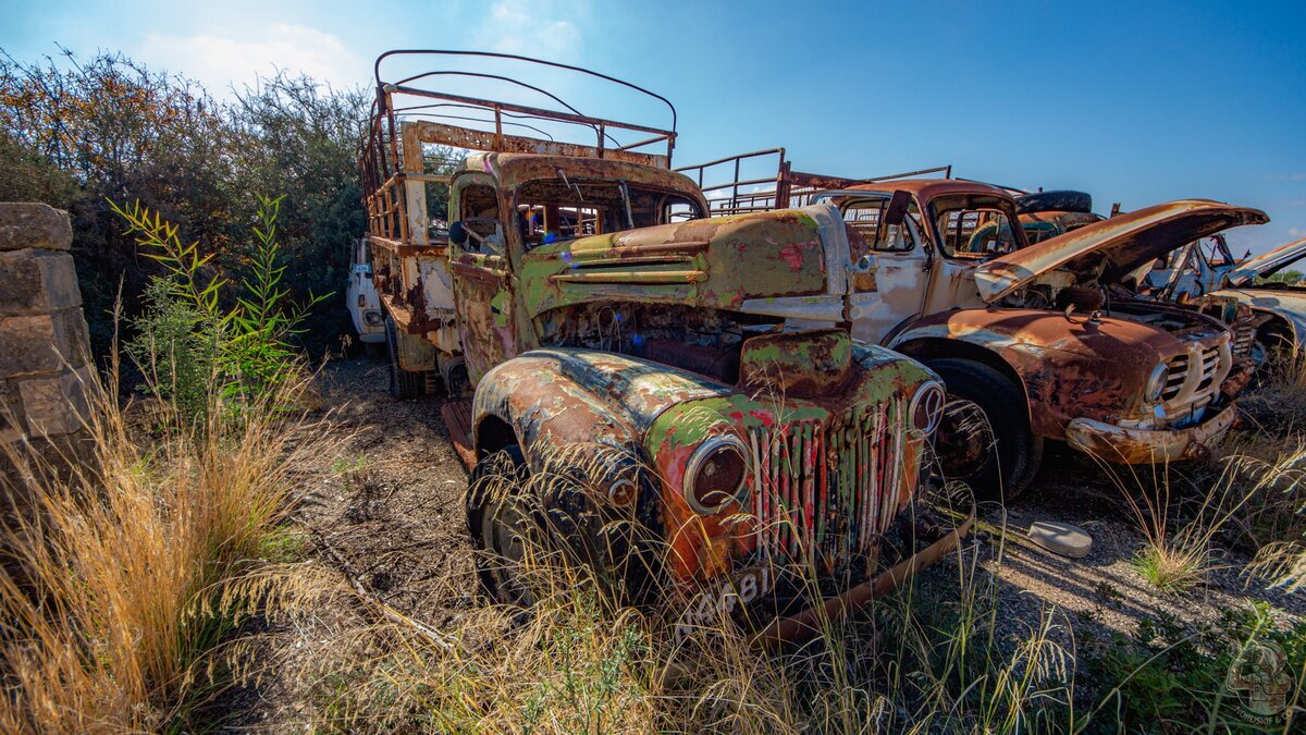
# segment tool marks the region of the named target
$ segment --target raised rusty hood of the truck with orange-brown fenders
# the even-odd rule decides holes
[[[981,263],[974,269],[976,286],[985,301],[993,302],[1063,265],[1079,272],[1100,268],[1098,280],[1114,282],[1195,239],[1268,221],[1264,212],[1247,207],[1207,199],[1168,201]]]

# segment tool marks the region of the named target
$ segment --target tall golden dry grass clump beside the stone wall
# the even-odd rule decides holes
[[[161,404],[166,429],[145,437],[116,388],[88,386],[93,449],[71,476],[10,451],[27,500],[3,538],[7,732],[182,725],[222,633],[277,587],[263,573],[232,582],[286,510],[296,455],[323,450],[283,411],[257,407],[187,430]]]

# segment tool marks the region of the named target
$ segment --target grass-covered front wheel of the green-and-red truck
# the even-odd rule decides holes
[[[530,607],[535,596],[522,574],[528,544],[539,534],[524,492],[530,470],[512,445],[481,458],[468,484],[468,531],[475,547],[477,575],[486,596],[500,604]]]

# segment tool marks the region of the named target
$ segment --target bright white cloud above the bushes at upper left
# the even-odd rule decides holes
[[[338,35],[293,24],[255,26],[246,38],[212,34],[150,34],[138,58],[202,82],[217,97],[227,97],[278,69],[304,73],[334,88],[368,81],[366,60]]]

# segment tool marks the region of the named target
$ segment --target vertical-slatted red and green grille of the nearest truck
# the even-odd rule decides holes
[[[757,551],[827,573],[872,553],[912,487],[901,413],[885,404],[751,430]]]

